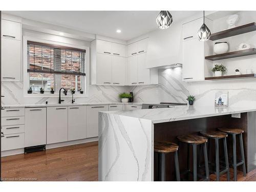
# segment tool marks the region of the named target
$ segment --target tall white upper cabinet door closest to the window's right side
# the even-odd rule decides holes
[[[112,83],[112,56],[97,53],[97,84]]]

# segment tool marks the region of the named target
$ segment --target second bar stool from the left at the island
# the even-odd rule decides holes
[[[206,142],[207,138],[198,136],[198,135],[182,135],[177,137],[179,141],[187,143],[188,145],[193,146],[193,179],[197,181],[198,177],[198,170],[197,170],[197,145],[203,145],[203,152],[204,152],[204,164],[205,164],[205,178],[204,181],[209,181],[209,167],[208,167],[208,157],[207,157],[207,148]],[[188,146],[189,147],[189,146]],[[187,172],[190,173],[189,170],[189,154],[188,154],[188,170]]]

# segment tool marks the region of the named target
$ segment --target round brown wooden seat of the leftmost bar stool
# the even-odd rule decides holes
[[[154,142],[154,151],[157,153],[170,153],[178,151],[179,146],[173,142],[161,142],[155,141]]]

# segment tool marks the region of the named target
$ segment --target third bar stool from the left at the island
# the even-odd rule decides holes
[[[229,165],[228,165],[228,155],[227,155],[227,134],[224,132],[218,132],[218,131],[201,131],[200,132],[204,137],[207,137],[208,139],[215,140],[215,168],[216,171],[214,172],[216,175],[216,181],[220,180],[220,175],[227,173],[227,181],[230,180],[229,178]],[[225,168],[223,168],[220,172],[220,160],[219,160],[219,140],[223,139],[223,146],[224,146],[224,156],[225,156]],[[210,142],[208,143],[210,145]],[[210,147],[210,146],[209,146]],[[208,151],[210,153],[210,150]],[[221,167],[222,168],[222,167]]]

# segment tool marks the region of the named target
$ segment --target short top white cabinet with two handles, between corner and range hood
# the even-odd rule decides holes
[[[148,38],[145,38],[127,45],[127,57],[147,52],[147,42]]]

